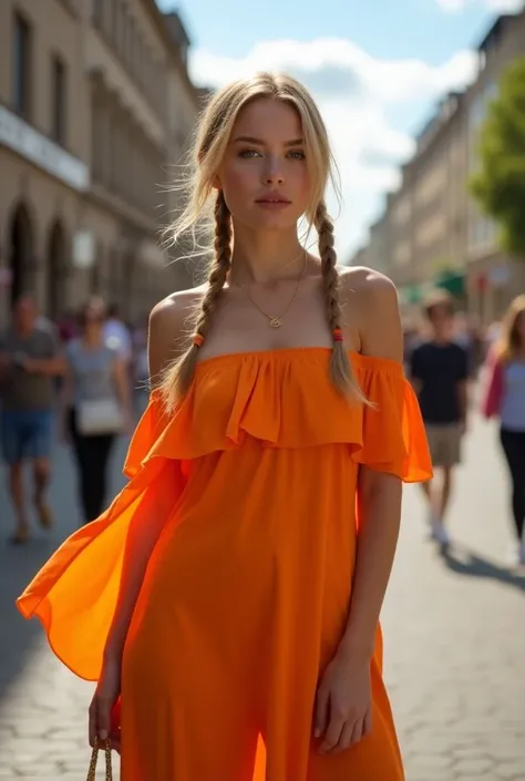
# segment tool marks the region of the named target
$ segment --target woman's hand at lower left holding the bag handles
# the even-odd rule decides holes
[[[96,691],[90,705],[90,746],[95,738],[101,741],[110,739],[111,748],[121,751],[120,736],[120,695],[121,659],[104,661]]]

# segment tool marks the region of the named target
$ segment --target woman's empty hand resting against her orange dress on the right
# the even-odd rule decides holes
[[[317,692],[315,737],[322,738],[319,753],[339,753],[372,728],[370,661],[339,651],[328,665]]]

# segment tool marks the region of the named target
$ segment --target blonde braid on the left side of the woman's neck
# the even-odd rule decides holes
[[[199,345],[208,333],[217,299],[225,286],[231,265],[231,215],[219,191],[214,208],[215,217],[215,257],[208,276],[208,289],[203,298],[200,311],[195,322],[194,341],[186,352],[181,356],[168,369],[162,382],[164,400],[167,409],[173,408],[176,399],[188,390],[197,364]]]

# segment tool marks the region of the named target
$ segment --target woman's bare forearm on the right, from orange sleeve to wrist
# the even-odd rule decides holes
[[[356,567],[348,624],[341,640],[341,651],[351,656],[371,658],[373,654],[398,544],[401,494],[398,477],[370,472],[358,492],[360,525]]]

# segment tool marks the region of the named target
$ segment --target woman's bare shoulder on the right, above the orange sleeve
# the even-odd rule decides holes
[[[389,277],[361,266],[341,270],[343,298],[356,311],[361,351],[401,361],[403,335],[398,291]]]

